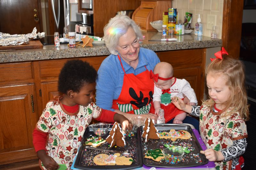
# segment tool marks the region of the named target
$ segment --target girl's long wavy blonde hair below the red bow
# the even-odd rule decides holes
[[[205,74],[212,73],[215,75],[223,74],[226,76],[226,85],[231,91],[231,95],[226,101],[226,107],[223,109],[224,117],[233,112],[238,112],[245,120],[249,120],[249,109],[247,106],[247,94],[245,90],[244,64],[230,57],[223,57],[222,60],[216,58],[206,68]],[[206,105],[213,107],[214,101],[210,98],[204,101]],[[229,110],[231,108],[231,110]]]

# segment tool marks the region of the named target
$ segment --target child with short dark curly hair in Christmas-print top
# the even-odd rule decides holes
[[[87,62],[68,61],[59,75],[58,89],[64,95],[46,104],[33,131],[33,144],[47,170],[73,163],[73,154],[81,144],[84,131],[92,118],[103,122],[120,122],[123,129],[132,124],[123,115],[101,109],[93,102],[97,71]]]

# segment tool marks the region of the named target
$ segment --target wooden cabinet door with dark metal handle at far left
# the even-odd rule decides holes
[[[34,84],[0,87],[0,164],[37,158],[32,144],[34,94]]]

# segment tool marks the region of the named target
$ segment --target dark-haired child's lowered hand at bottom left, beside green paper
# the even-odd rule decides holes
[[[55,162],[52,157],[48,156],[44,150],[37,151],[37,156],[47,170],[59,169],[57,162]]]

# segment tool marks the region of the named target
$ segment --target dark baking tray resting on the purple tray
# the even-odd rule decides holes
[[[191,134],[191,139],[177,139],[172,142],[171,139],[149,139],[147,143],[145,143],[145,138],[141,140],[141,152],[142,152],[142,160],[143,164],[146,166],[154,166],[154,167],[165,167],[165,168],[184,168],[184,167],[192,167],[192,166],[200,166],[208,163],[208,159],[205,158],[204,154],[201,154],[200,151],[203,150],[199,142],[197,141],[195,134],[190,126],[188,125],[179,125],[179,124],[156,124],[156,129],[158,131],[167,131],[170,129],[175,130],[187,130]],[[143,126],[140,127],[140,136],[143,132]],[[164,144],[173,144],[173,145],[181,145],[181,146],[190,146],[188,148],[194,149],[190,151],[190,153],[184,153],[183,159],[179,164],[168,164],[162,159],[160,162],[156,162],[152,159],[144,158],[145,153],[149,149],[164,149]]]

